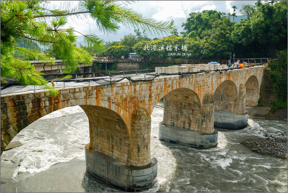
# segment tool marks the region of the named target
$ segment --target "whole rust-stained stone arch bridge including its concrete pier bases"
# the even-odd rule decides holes
[[[257,106],[264,66],[186,76],[160,76],[147,82],[62,88],[1,95],[1,152],[35,120],[79,105],[89,120],[85,146],[88,173],[126,191],[151,186],[157,160],[150,155],[151,112],[164,98],[159,139],[208,148],[217,145],[214,125],[247,125],[246,106]]]

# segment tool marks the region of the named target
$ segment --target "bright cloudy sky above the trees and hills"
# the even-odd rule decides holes
[[[50,1],[50,6],[54,5],[59,7],[65,1]],[[130,5],[134,11],[143,14],[147,18],[153,18],[159,21],[171,21],[174,20],[175,25],[178,27],[178,32],[183,31],[181,27],[183,22],[189,17],[191,12],[202,12],[203,10],[217,10],[220,12],[233,13],[231,8],[236,5],[236,14],[240,15],[239,10],[243,4],[254,4],[256,1],[136,1]],[[67,1],[66,1],[67,3]],[[77,6],[78,1],[70,1],[69,7]],[[111,37],[113,41],[115,38],[121,38],[126,34],[134,34],[134,29],[126,29],[122,27],[116,34],[104,34],[96,27],[95,21],[92,18],[76,18],[74,16],[68,19],[68,26],[74,27],[76,31],[84,34],[94,33],[103,37]],[[80,35],[80,34],[76,34]],[[149,35],[150,37],[158,37]],[[105,39],[107,39],[105,38]]]

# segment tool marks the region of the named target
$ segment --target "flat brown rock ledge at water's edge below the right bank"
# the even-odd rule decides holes
[[[287,121],[287,107],[272,109],[271,107],[245,107],[249,118]]]

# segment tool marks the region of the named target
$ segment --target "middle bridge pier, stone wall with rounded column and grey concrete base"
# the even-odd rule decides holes
[[[163,121],[159,139],[195,147],[214,147],[218,132],[214,131],[214,98],[205,94],[202,104],[198,95],[187,88],[173,90],[164,96]]]

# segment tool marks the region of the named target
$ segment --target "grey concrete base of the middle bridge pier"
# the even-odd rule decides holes
[[[214,133],[199,133],[181,128],[165,126],[159,123],[159,140],[172,143],[185,143],[195,147],[215,147],[217,145],[218,131]]]

